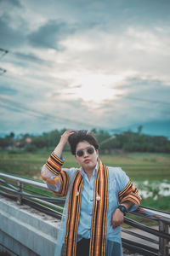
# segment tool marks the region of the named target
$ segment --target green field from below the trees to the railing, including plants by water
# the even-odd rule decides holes
[[[37,180],[41,179],[41,168],[49,154],[50,152],[47,150],[39,150],[34,153],[0,151],[0,172],[31,177]],[[74,156],[69,152],[65,152],[64,156],[64,167],[77,166]],[[159,184],[170,184],[169,156],[169,154],[157,153],[102,154],[100,159],[107,166],[122,167],[122,170],[127,173],[131,180],[138,184],[139,189],[153,190],[152,196],[144,199],[142,205],[170,211],[170,195],[159,195]],[[144,185],[144,182],[148,182],[148,184]],[[155,200],[153,200],[153,197],[155,197]]]

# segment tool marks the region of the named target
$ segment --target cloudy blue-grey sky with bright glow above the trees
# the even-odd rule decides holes
[[[0,133],[170,120],[170,1],[0,0]]]

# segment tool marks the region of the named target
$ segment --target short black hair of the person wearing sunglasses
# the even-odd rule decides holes
[[[87,130],[79,130],[75,131],[75,133],[71,134],[68,138],[68,142],[71,146],[71,153],[76,154],[77,144],[84,141],[93,145],[95,149],[99,148],[99,143],[94,137],[94,133],[88,132]]]

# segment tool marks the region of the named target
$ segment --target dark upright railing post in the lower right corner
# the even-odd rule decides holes
[[[159,221],[159,231],[163,233],[169,233],[169,224]],[[167,239],[160,237],[159,238],[159,255],[160,256],[167,256],[169,255],[169,244]]]

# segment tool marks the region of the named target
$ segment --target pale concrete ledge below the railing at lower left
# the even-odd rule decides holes
[[[54,255],[59,220],[2,196],[0,219],[0,244],[14,255]]]

